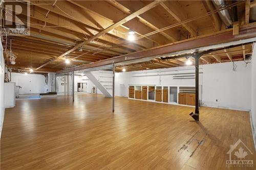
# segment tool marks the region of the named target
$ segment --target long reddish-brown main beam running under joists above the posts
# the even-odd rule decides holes
[[[184,50],[190,50],[190,49],[192,50],[194,48],[215,45],[215,44],[220,44],[225,42],[231,42],[231,41],[237,41],[237,40],[242,40],[246,38],[252,38],[255,36],[256,36],[256,26],[254,24],[247,25],[247,26],[245,25],[244,27],[241,28],[240,34],[238,36],[233,35],[232,29],[227,29],[225,31],[220,31],[219,34],[213,34],[213,35],[211,34],[208,36],[206,35],[206,36],[201,36],[197,38],[191,38],[191,40],[189,39],[189,40],[183,40],[177,43],[170,43],[167,45],[151,48],[151,49],[140,51],[140,52],[126,54],[126,55],[113,57],[110,59],[106,59],[106,60],[102,60],[102,61],[98,61],[98,62],[94,62],[94,63],[90,63],[90,64],[86,64],[86,65],[82,65],[74,68],[60,70],[60,71],[57,71],[57,73],[93,68],[97,66],[108,65],[113,62],[119,63],[123,61],[130,61],[130,60],[135,60],[140,58],[164,55],[164,54],[169,54],[169,53],[174,53],[174,52],[179,52]]]

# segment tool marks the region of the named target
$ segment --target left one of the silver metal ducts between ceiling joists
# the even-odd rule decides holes
[[[226,7],[224,0],[212,0],[212,3],[214,4],[216,9]],[[225,23],[226,27],[231,28],[233,25],[233,21],[232,21],[231,15],[229,13],[229,10],[228,9],[221,10],[218,12],[218,14],[221,17],[221,20]]]

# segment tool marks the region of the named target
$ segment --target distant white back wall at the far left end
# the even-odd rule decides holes
[[[11,82],[15,82],[19,89],[19,94],[34,94],[46,92],[46,77],[36,74],[20,74],[13,72]]]

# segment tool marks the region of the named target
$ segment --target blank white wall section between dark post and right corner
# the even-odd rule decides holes
[[[243,61],[203,66],[203,103],[205,106],[250,110],[251,108],[251,64]],[[218,102],[216,102],[218,100]]]

